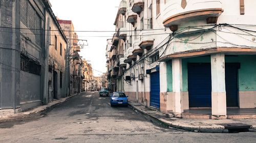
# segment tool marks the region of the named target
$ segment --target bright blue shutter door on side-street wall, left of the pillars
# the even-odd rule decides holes
[[[150,75],[150,106],[160,108],[160,77],[159,71]]]

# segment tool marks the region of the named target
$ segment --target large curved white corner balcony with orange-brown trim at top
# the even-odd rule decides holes
[[[222,0],[172,0],[164,6],[163,24],[165,27],[172,27],[183,21],[195,19],[206,19],[207,23],[216,23],[222,12]]]

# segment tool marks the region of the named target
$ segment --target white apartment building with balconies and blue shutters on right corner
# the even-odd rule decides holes
[[[129,99],[161,112],[185,117],[206,109],[220,119],[232,109],[250,112],[256,105],[255,3],[121,1],[107,48],[113,90],[119,67]]]

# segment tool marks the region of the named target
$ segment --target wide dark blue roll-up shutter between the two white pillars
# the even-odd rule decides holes
[[[210,63],[188,64],[189,107],[211,107]]]

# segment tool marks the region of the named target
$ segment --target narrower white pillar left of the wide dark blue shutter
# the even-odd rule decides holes
[[[183,96],[182,96],[182,59],[177,58],[172,60],[173,66],[173,92],[174,92],[174,107],[173,112],[183,112]]]

